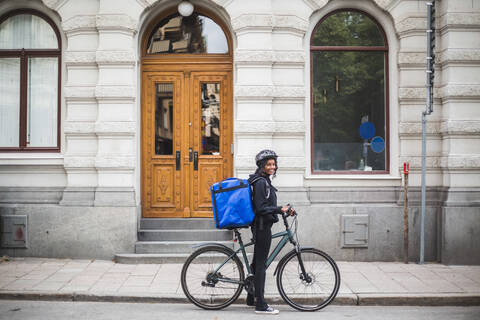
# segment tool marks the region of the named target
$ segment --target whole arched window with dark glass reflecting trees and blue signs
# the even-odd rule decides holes
[[[367,14],[334,11],[311,42],[312,173],[388,171],[388,45]]]

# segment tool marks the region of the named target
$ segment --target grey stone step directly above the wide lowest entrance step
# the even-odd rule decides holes
[[[210,241],[138,241],[135,243],[135,253],[191,253],[194,246],[206,244]],[[215,241],[233,249],[233,241]]]

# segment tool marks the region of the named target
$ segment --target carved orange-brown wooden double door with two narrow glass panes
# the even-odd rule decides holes
[[[142,71],[144,217],[211,217],[210,186],[232,174],[232,76],[218,66]]]

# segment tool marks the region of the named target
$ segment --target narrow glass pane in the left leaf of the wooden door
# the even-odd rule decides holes
[[[173,154],[173,83],[155,85],[155,154]]]

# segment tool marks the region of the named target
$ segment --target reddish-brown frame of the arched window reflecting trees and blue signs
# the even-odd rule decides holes
[[[327,19],[329,16],[344,12],[344,11],[354,11],[361,13],[368,18],[370,18],[380,30],[380,33],[383,37],[384,46],[314,46],[312,45],[313,42],[313,35],[317,32],[318,27]],[[313,28],[312,34],[310,35],[310,173],[315,176],[321,175],[378,175],[378,174],[389,174],[390,173],[390,114],[389,114],[389,48],[388,48],[388,40],[385,31],[383,30],[382,26],[378,23],[377,19],[375,19],[369,13],[355,8],[340,8],[333,10],[323,16]],[[313,97],[313,53],[318,51],[359,51],[359,52],[368,52],[368,51],[380,51],[384,52],[385,57],[385,170],[376,170],[376,171],[358,171],[358,170],[336,170],[336,171],[321,171],[321,170],[314,170],[314,119],[313,119],[313,108],[314,108],[314,97]]]

